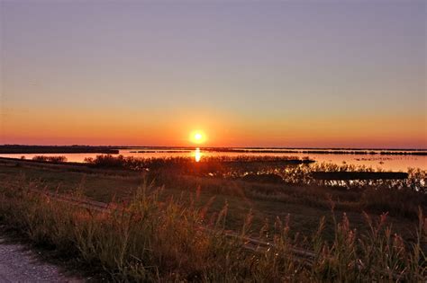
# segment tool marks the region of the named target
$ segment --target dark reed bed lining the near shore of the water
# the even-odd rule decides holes
[[[364,165],[313,164],[308,157],[294,156],[204,156],[200,162],[191,157],[135,158],[123,155],[97,155],[87,158],[86,163],[98,168],[122,168],[134,171],[163,172],[166,174],[188,174],[204,177],[241,179],[247,174],[275,174],[286,184],[339,186],[352,190],[369,187],[390,190],[411,190],[427,193],[427,171],[408,168],[404,180],[315,180],[312,172],[383,172]]]

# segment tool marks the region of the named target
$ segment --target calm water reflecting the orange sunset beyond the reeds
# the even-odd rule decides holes
[[[146,150],[150,152],[135,153],[134,151]],[[35,155],[45,156],[66,156],[68,162],[84,162],[86,157],[95,157],[100,154],[31,154],[31,155],[0,155],[0,157],[13,157],[25,159],[32,159]],[[236,156],[236,155],[269,155],[269,156],[295,156],[298,158],[308,156],[310,159],[315,160],[317,163],[332,163],[332,164],[354,164],[365,165],[372,168],[380,168],[386,171],[402,171],[406,172],[409,167],[421,168],[427,170],[427,155],[348,155],[348,154],[306,154],[306,153],[236,153],[236,152],[217,152],[217,151],[204,151],[200,149],[194,150],[170,150],[170,149],[148,149],[148,148],[129,148],[120,150],[120,155],[134,156],[134,157],[176,157],[176,156],[189,156],[199,161],[203,156]]]

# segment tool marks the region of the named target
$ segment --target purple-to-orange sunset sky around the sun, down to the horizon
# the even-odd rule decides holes
[[[0,144],[427,148],[427,1],[0,0]]]

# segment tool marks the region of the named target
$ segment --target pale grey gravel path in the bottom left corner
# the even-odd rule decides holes
[[[0,235],[0,282],[83,282],[64,275],[59,267],[41,262],[22,244],[7,243]]]

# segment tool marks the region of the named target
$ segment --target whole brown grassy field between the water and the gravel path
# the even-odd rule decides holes
[[[67,247],[70,256],[114,279],[387,281],[426,276],[426,172],[411,170],[405,180],[337,181],[317,180],[312,173],[366,175],[372,170],[308,167],[308,161],[298,165],[292,158],[271,157],[195,163],[107,155],[88,162],[0,160],[2,222],[59,252]],[[110,203],[115,213],[69,206],[34,192],[40,190]],[[77,226],[89,230],[77,231]],[[112,228],[117,234],[107,232]],[[101,231],[105,238],[89,237]],[[224,231],[277,243],[273,250],[278,251],[248,252],[244,241],[231,241]],[[131,242],[121,242],[123,237]],[[291,245],[316,254],[310,267],[294,259]],[[373,257],[374,250],[381,253],[378,249],[388,249],[387,260]],[[242,259],[244,264],[230,262]],[[367,261],[369,266],[360,265]]]

